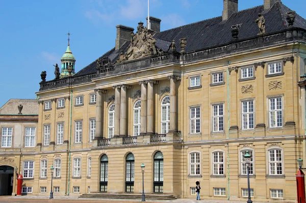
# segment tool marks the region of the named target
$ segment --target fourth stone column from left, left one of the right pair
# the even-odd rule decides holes
[[[147,132],[147,81],[140,81],[139,84],[141,84],[140,134],[145,135]]]

